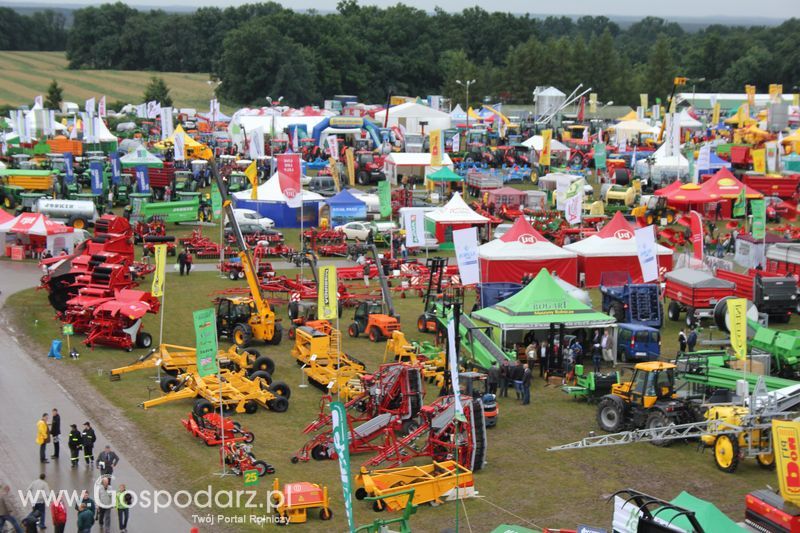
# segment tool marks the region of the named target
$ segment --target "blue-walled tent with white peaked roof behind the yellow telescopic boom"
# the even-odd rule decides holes
[[[306,228],[319,223],[319,206],[325,198],[315,192],[301,190],[303,208],[289,207],[281,190],[278,173],[258,186],[258,200],[251,200],[252,189],[233,193],[233,203],[240,209],[252,209],[262,217],[269,217],[279,228]],[[302,220],[302,224],[301,224]]]

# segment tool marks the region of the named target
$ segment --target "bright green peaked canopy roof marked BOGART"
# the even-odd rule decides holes
[[[577,299],[561,288],[546,269],[517,294],[491,307],[472,313],[472,317],[504,331],[548,329],[550,324],[566,328],[593,328],[616,321]]]

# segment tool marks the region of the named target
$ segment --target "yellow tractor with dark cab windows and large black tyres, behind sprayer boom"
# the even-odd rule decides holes
[[[611,394],[597,407],[597,423],[603,431],[653,429],[702,420],[699,404],[675,394],[675,365],[660,361],[638,363],[630,381],[615,383]],[[669,441],[654,440],[657,446]]]

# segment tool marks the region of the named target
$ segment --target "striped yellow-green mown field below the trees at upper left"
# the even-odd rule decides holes
[[[151,76],[164,78],[176,107],[208,109],[207,74],[123,70],[69,70],[63,52],[0,52],[0,105],[33,105],[52,80],[64,88],[64,100],[83,108],[87,98],[106,95],[111,102],[140,103]]]

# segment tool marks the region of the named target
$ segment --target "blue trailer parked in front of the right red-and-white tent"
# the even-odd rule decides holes
[[[656,283],[631,283],[627,272],[603,272],[600,276],[603,312],[617,322],[660,328],[663,322],[661,298]]]

